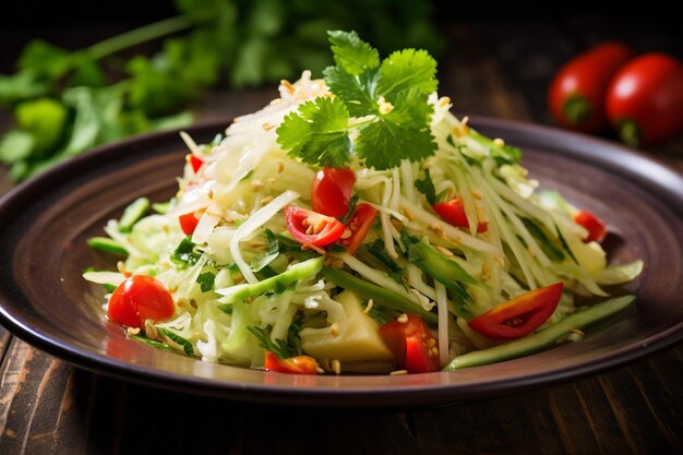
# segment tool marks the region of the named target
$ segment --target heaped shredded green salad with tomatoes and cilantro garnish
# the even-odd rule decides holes
[[[522,151],[436,95],[428,52],[329,32],[323,79],[189,153],[177,194],[135,200],[84,277],[131,338],[285,373],[423,373],[578,342],[634,296],[607,227],[540,190]],[[113,265],[113,261],[112,261]]]

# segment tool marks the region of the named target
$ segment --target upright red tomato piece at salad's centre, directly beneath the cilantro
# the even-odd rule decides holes
[[[348,167],[319,170],[311,189],[311,207],[323,215],[339,217],[349,209],[356,173]]]

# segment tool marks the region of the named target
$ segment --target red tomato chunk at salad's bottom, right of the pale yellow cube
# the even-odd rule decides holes
[[[387,322],[380,335],[399,367],[408,373],[428,373],[441,368],[436,339],[417,314],[406,314],[407,321]]]

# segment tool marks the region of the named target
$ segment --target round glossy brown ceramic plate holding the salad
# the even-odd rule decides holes
[[[555,129],[474,119],[525,152],[541,187],[607,220],[612,261],[640,258],[634,306],[590,327],[580,343],[453,373],[305,376],[213,364],[127,339],[101,310],[87,266],[111,267],[85,240],[145,195],[176,191],[178,132],[149,134],[82,155],[0,201],[0,322],[20,338],[84,369],[231,399],[325,406],[407,407],[511,394],[632,362],[683,338],[683,177],[613,143]],[[189,132],[209,141],[227,123]]]

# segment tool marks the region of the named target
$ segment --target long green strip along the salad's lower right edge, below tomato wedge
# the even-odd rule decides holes
[[[494,346],[488,349],[475,350],[456,357],[443,370],[454,371],[463,368],[501,362],[503,360],[523,357],[554,344],[563,335],[574,328],[583,328],[623,310],[635,300],[635,296],[623,296],[606,300],[567,315],[554,325],[534,335],[515,339],[510,343]]]

